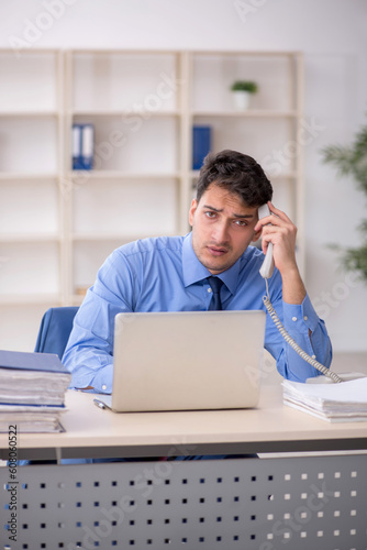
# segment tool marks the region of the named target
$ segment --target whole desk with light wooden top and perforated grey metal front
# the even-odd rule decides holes
[[[1,468],[1,549],[367,548],[367,425],[330,425],[283,407],[265,386],[257,410],[114,415],[68,393],[66,433],[20,436],[20,455],[158,457],[326,450],[307,455],[19,468],[16,542]],[[8,438],[2,435],[1,458]],[[362,451],[363,452],[363,451]],[[8,485],[7,485],[8,484]]]

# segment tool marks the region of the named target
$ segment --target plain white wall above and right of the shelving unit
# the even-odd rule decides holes
[[[322,164],[320,150],[349,143],[366,122],[366,29],[364,0],[13,0],[0,4],[0,47],[23,41],[30,47],[304,53],[304,114],[313,128],[304,151],[307,285],[338,351],[367,350],[367,286],[337,271],[337,255],[327,243],[358,242],[356,226],[366,204],[353,182],[342,180]]]

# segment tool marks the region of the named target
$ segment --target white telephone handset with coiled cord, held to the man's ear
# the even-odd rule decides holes
[[[271,215],[271,212],[269,210],[268,205],[263,205],[263,206],[259,207],[259,209],[258,209],[258,219],[259,220],[262,218],[266,218],[267,216],[270,216],[270,215]],[[309,364],[311,364],[312,366],[314,366],[318,371],[320,371],[322,374],[324,374],[325,376],[327,376],[329,378],[331,378],[333,382],[336,382],[336,383],[343,382],[343,380],[336,373],[334,373],[333,371],[330,371],[326,366],[322,365],[321,363],[319,363],[319,361],[316,361],[315,359],[311,358],[308,353],[305,353],[305,351],[303,351],[298,345],[298,343],[291,338],[291,336],[288,334],[288,332],[285,329],[285,327],[282,326],[279,317],[277,316],[277,312],[274,309],[274,307],[271,305],[271,301],[270,301],[270,297],[269,297],[269,287],[268,287],[268,280],[267,279],[271,277],[273,272],[274,272],[273,243],[269,242],[267,251],[266,251],[265,260],[264,260],[263,265],[262,265],[260,271],[259,271],[259,273],[260,273],[262,277],[265,279],[265,284],[266,284],[267,296],[264,296],[263,300],[264,300],[264,305],[265,305],[265,307],[266,307],[269,316],[271,317],[275,326],[277,327],[277,329],[279,330],[280,334],[286,340],[286,342],[288,342],[289,345],[304,361],[307,361]]]

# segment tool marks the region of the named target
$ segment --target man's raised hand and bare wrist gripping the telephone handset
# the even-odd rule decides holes
[[[275,208],[271,202],[268,202],[268,207],[273,216],[262,218],[254,229],[259,231],[263,227],[264,254],[268,243],[273,243],[274,263],[282,279],[283,300],[288,304],[301,304],[305,296],[305,288],[296,261],[297,228],[288,216]]]

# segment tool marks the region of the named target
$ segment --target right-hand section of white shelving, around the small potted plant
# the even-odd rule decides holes
[[[299,227],[299,263],[303,257],[302,55],[278,52],[208,52],[191,57],[191,125],[212,128],[214,151],[234,148],[256,158],[275,189],[275,202]],[[234,80],[255,80],[251,109],[238,112],[231,97]],[[194,174],[193,174],[194,177]]]

